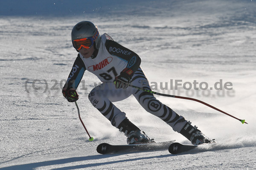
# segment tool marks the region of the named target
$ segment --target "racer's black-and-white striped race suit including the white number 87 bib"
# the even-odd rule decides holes
[[[101,36],[101,44],[96,57],[83,58],[79,53],[64,88],[76,89],[85,70],[88,70],[102,81],[102,84],[96,86],[90,92],[89,100],[102,115],[111,121],[113,126],[118,127],[126,118],[125,112],[118,109],[113,102],[122,101],[130,95],[134,95],[146,111],[161,118],[173,130],[180,132],[187,121],[158,101],[151,93],[132,87],[116,89],[113,80],[125,68],[129,68],[134,72],[131,78],[132,85],[150,90],[148,80],[140,68],[139,56],[113,41],[109,35],[104,34]]]

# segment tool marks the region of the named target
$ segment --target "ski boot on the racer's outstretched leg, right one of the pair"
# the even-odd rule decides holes
[[[180,131],[180,134],[185,136],[192,144],[205,144],[205,143],[212,143],[213,140],[207,138],[201,130],[198,130],[196,126],[192,126],[191,122],[188,121],[185,126]]]

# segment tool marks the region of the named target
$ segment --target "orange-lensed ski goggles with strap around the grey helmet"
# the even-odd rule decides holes
[[[95,35],[93,35],[93,37],[72,40],[73,47],[77,50],[80,50],[82,47],[84,47],[86,49],[90,49],[93,46],[93,44],[98,36],[99,36],[99,31],[97,29],[97,31],[96,31]]]

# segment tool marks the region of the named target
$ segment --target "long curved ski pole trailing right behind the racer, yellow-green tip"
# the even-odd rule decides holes
[[[187,97],[181,97],[181,96],[177,96],[177,95],[166,95],[166,94],[162,94],[162,93],[158,93],[158,92],[153,92],[153,91],[147,90],[147,89],[141,89],[140,87],[138,87],[138,86],[133,86],[133,85],[131,85],[131,84],[128,84],[128,85],[129,85],[130,87],[135,88],[135,89],[139,89],[139,90],[142,90],[142,91],[144,91],[144,92],[149,92],[149,93],[155,94],[155,95],[162,95],[162,96],[171,97],[171,98],[183,98],[183,99],[187,99],[187,100],[197,101],[197,102],[199,102],[199,103],[201,103],[201,104],[204,104],[204,105],[206,105],[206,106],[208,106],[208,107],[211,107],[212,109],[218,110],[219,112],[222,112],[222,113],[224,113],[224,114],[226,114],[226,115],[229,115],[229,116],[232,117],[232,118],[235,118],[235,119],[241,121],[242,124],[246,123],[245,120],[241,120],[241,119],[239,119],[239,118],[236,118],[236,117],[233,116],[233,115],[230,115],[230,114],[228,114],[228,113],[226,113],[226,112],[224,112],[224,111],[222,111],[222,110],[220,110],[220,109],[218,109],[218,108],[216,108],[216,107],[213,107],[213,106],[211,106],[211,105],[205,103],[204,101],[200,101],[200,100],[195,99],[195,98],[187,98]],[[247,123],[246,123],[246,124],[247,124]]]

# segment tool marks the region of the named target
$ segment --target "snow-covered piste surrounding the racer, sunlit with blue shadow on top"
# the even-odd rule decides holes
[[[0,170],[256,169],[254,0],[35,2],[0,2]],[[248,124],[195,101],[156,96],[218,145],[181,155],[98,154],[98,144],[126,144],[126,138],[88,101],[96,76],[86,72],[78,88],[81,118],[94,141],[61,94],[77,55],[70,33],[81,20],[137,52],[148,80],[158,85],[154,91],[197,98]],[[222,80],[233,89],[171,90],[170,80],[209,88]],[[134,97],[115,104],[155,141],[189,144]]]

